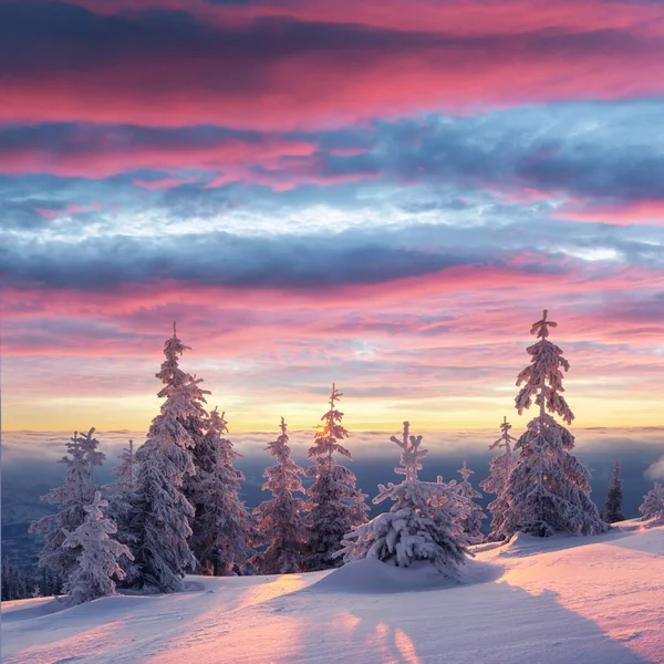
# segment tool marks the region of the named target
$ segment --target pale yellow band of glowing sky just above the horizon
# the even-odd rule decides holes
[[[217,400],[215,400],[217,401]],[[224,400],[218,400],[220,403]],[[324,398],[319,401],[291,401],[288,403],[257,404],[241,400],[226,408],[231,432],[277,430],[283,415],[291,429],[310,429],[320,423],[325,412]],[[662,404],[658,395],[614,398],[580,395],[571,400],[578,427],[642,427],[662,426]],[[211,407],[214,407],[214,403]],[[158,413],[159,400],[145,396],[95,396],[40,400],[39,417],[33,403],[27,401],[4,404],[2,429],[9,430],[74,430],[94,426],[100,430],[147,430]],[[220,406],[224,409],[224,406]],[[346,396],[340,405],[344,426],[350,430],[398,430],[404,419],[417,430],[473,430],[498,427],[502,416],[515,425],[525,424],[535,409],[521,416],[513,408],[513,394],[505,397],[437,397],[437,398],[352,398]]]

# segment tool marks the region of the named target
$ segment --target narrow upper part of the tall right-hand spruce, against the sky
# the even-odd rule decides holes
[[[548,311],[544,309],[542,318],[530,329],[530,333],[537,334],[540,341],[526,349],[526,352],[531,355],[531,360],[530,365],[517,377],[517,385],[522,383],[525,385],[515,400],[516,408],[521,415],[523,409],[529,408],[535,401],[540,406],[540,415],[543,415],[544,408],[547,408],[571,424],[574,415],[560,394],[564,392],[560,370],[562,367],[568,371],[570,364],[562,356],[562,350],[548,340],[549,328],[557,328],[558,323],[549,321],[547,314]]]

